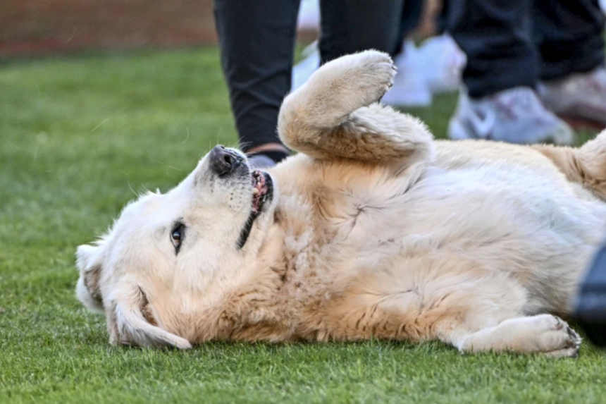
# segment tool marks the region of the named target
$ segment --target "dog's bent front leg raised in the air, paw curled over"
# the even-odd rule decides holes
[[[280,138],[316,159],[406,166],[432,159],[432,136],[421,121],[376,104],[394,75],[392,60],[378,51],[326,63],[284,100]]]

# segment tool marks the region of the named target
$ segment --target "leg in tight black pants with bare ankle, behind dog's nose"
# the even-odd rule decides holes
[[[290,90],[299,0],[215,0],[221,66],[228,83],[240,146],[279,151],[280,104]]]

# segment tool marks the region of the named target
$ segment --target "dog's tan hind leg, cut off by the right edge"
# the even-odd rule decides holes
[[[533,146],[551,159],[571,181],[606,201],[606,130],[583,147]]]

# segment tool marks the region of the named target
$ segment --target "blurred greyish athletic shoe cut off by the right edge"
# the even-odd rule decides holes
[[[543,104],[575,127],[606,127],[606,68],[542,82]]]

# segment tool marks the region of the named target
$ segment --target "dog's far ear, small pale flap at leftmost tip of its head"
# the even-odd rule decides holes
[[[104,313],[103,297],[99,280],[101,278],[101,247],[99,245],[80,245],[76,252],[76,267],[80,270],[80,279],[76,285],[76,295],[89,310]]]

